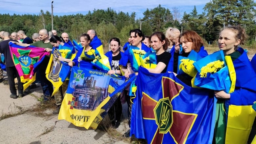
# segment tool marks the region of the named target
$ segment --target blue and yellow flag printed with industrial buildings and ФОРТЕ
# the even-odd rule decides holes
[[[75,126],[96,129],[117,97],[109,96],[125,77],[73,66],[58,119]]]

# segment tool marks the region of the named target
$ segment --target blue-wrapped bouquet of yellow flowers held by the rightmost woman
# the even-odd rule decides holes
[[[194,78],[195,86],[216,91],[224,90],[226,93],[234,91],[234,65],[230,56],[224,56],[223,51],[214,52],[193,65],[198,71]]]

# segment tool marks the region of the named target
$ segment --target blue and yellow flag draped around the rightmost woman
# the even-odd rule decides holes
[[[256,74],[246,52],[242,48],[238,51],[241,56],[233,61],[236,88],[230,93],[230,99],[225,101],[228,111],[225,143],[246,143],[256,116],[252,108],[256,101]]]

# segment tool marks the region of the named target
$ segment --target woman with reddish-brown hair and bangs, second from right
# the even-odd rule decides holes
[[[181,47],[182,51],[180,51]],[[188,74],[176,74],[178,71],[178,59],[179,56],[188,57],[190,52],[194,50],[199,56],[205,57],[208,55],[207,51],[204,50],[203,39],[195,31],[185,31],[180,35],[179,42],[175,45],[173,72],[177,78],[184,82],[188,86],[192,86],[192,77]],[[170,65],[169,65],[170,66]],[[168,67],[169,67],[168,66]]]

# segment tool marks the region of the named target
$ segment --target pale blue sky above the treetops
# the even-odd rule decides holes
[[[176,7],[183,15],[184,11],[187,13],[192,12],[196,6],[198,14],[201,14],[203,7],[210,0],[54,0],[53,1],[53,14],[54,15],[69,15],[82,13],[87,14],[90,10],[111,8],[113,10],[128,12],[136,12],[136,19],[143,18],[143,12],[148,8],[153,9],[159,4],[168,8],[173,13],[173,8]],[[40,10],[51,10],[52,0],[23,0],[23,1],[10,1],[0,0],[0,13],[9,14],[39,14]]]

